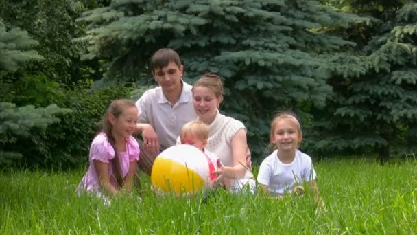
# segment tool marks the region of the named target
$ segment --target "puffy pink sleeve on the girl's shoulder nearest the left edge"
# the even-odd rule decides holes
[[[115,150],[108,142],[106,135],[99,134],[91,143],[90,146],[90,161],[99,160],[108,163],[115,157]]]

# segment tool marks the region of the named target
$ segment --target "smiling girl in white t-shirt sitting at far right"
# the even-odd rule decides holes
[[[276,148],[266,157],[257,181],[261,189],[273,197],[285,194],[303,194],[304,182],[319,201],[316,174],[309,155],[300,152],[302,132],[300,122],[292,113],[279,113],[271,124],[270,146]]]

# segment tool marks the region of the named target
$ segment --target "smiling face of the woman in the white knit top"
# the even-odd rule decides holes
[[[213,122],[221,102],[222,97],[217,97],[212,89],[202,86],[193,87],[193,107],[202,122],[206,124]]]

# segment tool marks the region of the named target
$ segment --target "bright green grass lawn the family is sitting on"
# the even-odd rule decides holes
[[[315,166],[327,212],[306,195],[270,199],[221,193],[101,199],[75,193],[83,170],[0,172],[0,234],[415,234],[415,161]],[[145,180],[146,183],[146,180]]]

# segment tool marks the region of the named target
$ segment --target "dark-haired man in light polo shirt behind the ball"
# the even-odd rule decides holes
[[[151,174],[159,151],[174,146],[182,126],[197,117],[192,87],[182,80],[184,66],[180,56],[173,49],[159,49],[152,56],[150,67],[159,86],[145,91],[136,102],[136,126],[143,138],[139,142],[139,168],[147,175]]]

